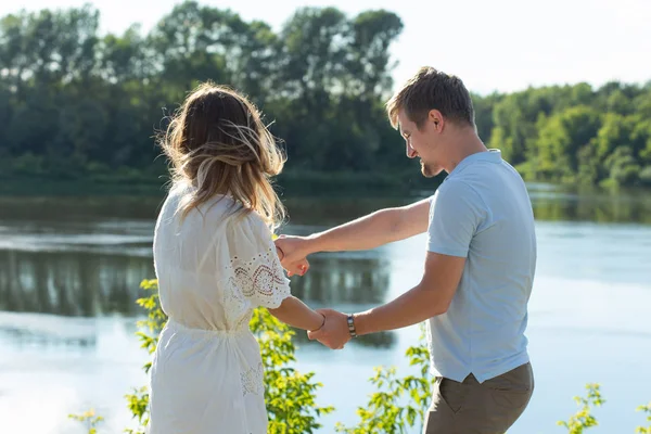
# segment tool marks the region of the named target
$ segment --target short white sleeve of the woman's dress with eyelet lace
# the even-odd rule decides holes
[[[228,238],[230,268],[242,295],[253,307],[279,307],[291,296],[291,291],[290,280],[276,254],[271,231],[254,212],[235,218],[231,228]]]

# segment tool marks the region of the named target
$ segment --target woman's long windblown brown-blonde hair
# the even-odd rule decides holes
[[[216,194],[257,212],[270,228],[284,218],[270,177],[280,174],[285,157],[257,108],[234,90],[200,85],[175,113],[159,144],[171,162],[173,186],[194,186],[179,204],[182,218]]]

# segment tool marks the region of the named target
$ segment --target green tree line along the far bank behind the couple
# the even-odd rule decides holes
[[[302,8],[275,30],[187,1],[149,33],[100,35],[99,22],[91,5],[0,20],[0,177],[157,179],[155,131],[209,79],[263,110],[293,179],[419,178],[384,113],[404,27],[393,12]],[[651,183],[651,81],[473,101],[480,136],[529,180]]]

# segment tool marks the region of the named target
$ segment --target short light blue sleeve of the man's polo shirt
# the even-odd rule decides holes
[[[444,182],[430,204],[427,250],[468,257],[470,243],[484,215],[482,197],[468,183]]]

